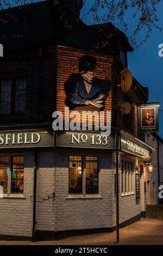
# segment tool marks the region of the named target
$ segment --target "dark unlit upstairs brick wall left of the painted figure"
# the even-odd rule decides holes
[[[38,54],[40,54],[39,57]],[[0,61],[0,79],[27,78],[26,113],[14,113],[12,107],[10,114],[0,114],[0,125],[34,124],[36,115],[38,123],[52,122],[52,113],[56,108],[57,87],[57,52],[55,48],[53,52],[45,49],[38,53],[38,49],[36,49],[24,53],[5,54],[5,57],[1,58]]]

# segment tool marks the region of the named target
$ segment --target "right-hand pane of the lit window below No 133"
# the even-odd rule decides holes
[[[98,194],[98,157],[86,156],[86,194]]]

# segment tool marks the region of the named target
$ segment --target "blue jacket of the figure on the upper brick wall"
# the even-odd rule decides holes
[[[97,97],[104,95],[108,96],[108,90],[101,86],[92,84],[91,90],[87,93],[83,77],[74,82],[70,89],[69,100],[75,104],[85,105],[85,100],[94,100]]]

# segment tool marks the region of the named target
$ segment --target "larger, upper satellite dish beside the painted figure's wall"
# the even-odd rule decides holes
[[[133,76],[129,69],[123,69],[121,72],[121,88],[122,92],[126,93],[130,90],[133,83]]]

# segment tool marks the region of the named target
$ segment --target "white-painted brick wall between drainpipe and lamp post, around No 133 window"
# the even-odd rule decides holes
[[[68,156],[69,155],[99,155],[99,195],[101,198],[70,198],[68,197]],[[37,194],[45,196],[53,192],[55,200],[37,203],[36,230],[71,230],[112,227],[112,200],[115,193],[114,166],[112,153],[109,151],[87,149],[57,149],[55,153],[55,185],[54,172],[50,168],[53,161],[51,153],[41,153],[39,161]],[[49,159],[49,167],[45,161]],[[44,167],[43,167],[44,166]],[[46,174],[45,174],[46,173]],[[47,179],[46,179],[47,177]]]

